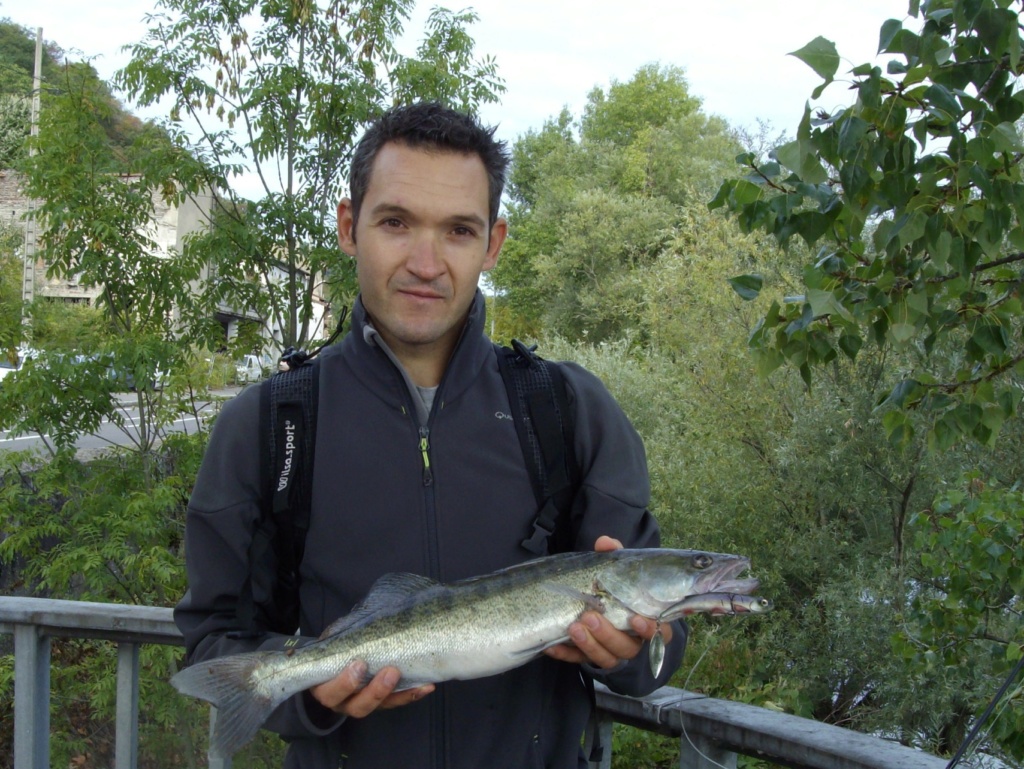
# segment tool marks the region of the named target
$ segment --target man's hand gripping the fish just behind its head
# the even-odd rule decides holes
[[[610,537],[599,537],[594,543],[594,550],[606,553],[618,550],[623,543]],[[640,653],[643,642],[650,640],[658,632],[657,623],[636,615],[630,620],[630,626],[636,636],[612,627],[603,614],[597,611],[587,611],[580,621],[569,626],[569,638],[572,645],[559,644],[552,646],[544,653],[563,663],[588,663],[596,668],[608,670],[616,667],[624,659],[632,659]],[[662,626],[665,642],[672,640],[672,626]]]

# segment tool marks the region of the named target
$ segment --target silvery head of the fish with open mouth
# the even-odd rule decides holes
[[[751,562],[744,556],[702,550],[631,550],[598,575],[601,590],[643,616],[660,617],[688,596],[729,592],[746,594],[757,580],[736,579]]]

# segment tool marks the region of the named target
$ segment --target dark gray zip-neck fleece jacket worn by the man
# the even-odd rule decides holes
[[[361,303],[353,332],[322,353],[312,511],[300,572],[303,639],[318,636],[389,571],[453,582],[532,557],[520,543],[531,531],[537,503],[483,323],[477,294],[425,424],[408,378],[379,338],[364,333]],[[571,512],[575,549],[592,550],[601,535],[627,547],[656,547],[639,436],[596,377],[560,366],[581,465]],[[258,387],[225,404],[189,501],[189,590],[174,616],[193,664],[280,649],[291,637],[269,629],[257,637],[240,633],[234,612],[259,520],[258,410]],[[684,646],[685,629],[677,625],[656,680],[643,652],[611,672],[543,657],[502,675],[440,684],[420,701],[366,719],[340,719],[300,694],[266,728],[290,742],[286,767],[575,769],[584,765],[580,736],[591,709],[584,676],[644,694],[666,683]]]

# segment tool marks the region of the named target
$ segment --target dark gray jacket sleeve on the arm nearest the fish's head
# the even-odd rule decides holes
[[[572,503],[574,548],[594,549],[607,535],[627,548],[660,545],[657,521],[647,510],[650,479],[640,435],[603,383],[575,364],[560,364],[574,416],[574,450],[580,464],[580,489]],[[672,623],[672,641],[655,678],[648,663],[647,644],[627,664],[611,671],[586,670],[621,694],[642,696],[668,683],[686,649],[688,629]]]

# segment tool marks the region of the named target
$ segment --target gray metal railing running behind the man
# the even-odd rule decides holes
[[[14,636],[14,766],[49,769],[50,639],[106,639],[118,645],[116,769],[138,755],[138,650],[181,645],[171,609],[44,598],[0,597],[0,633]],[[817,721],[666,686],[646,697],[598,687],[606,746],[596,769],[611,766],[611,727],[624,723],[679,739],[680,769],[735,769],[757,756],[793,769],[944,769],[935,756]],[[226,767],[227,762],[211,768]]]

